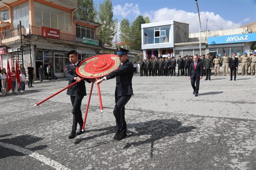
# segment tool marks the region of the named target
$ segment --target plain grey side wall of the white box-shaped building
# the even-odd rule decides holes
[[[189,25],[174,21],[174,43],[188,42]]]

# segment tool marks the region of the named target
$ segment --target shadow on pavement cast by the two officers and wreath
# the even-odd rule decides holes
[[[93,132],[93,131],[104,131],[100,134],[89,136],[86,138],[80,138],[75,141],[75,144],[80,143],[83,140],[89,140],[93,139],[99,136],[104,136],[108,134],[114,134],[115,133],[115,126],[106,127],[102,129],[95,129],[95,130],[88,130],[86,132]],[[167,137],[167,136],[175,136],[180,133],[187,133],[190,132],[193,129],[196,129],[194,126],[182,126],[181,122],[174,119],[156,119],[156,120],[150,120],[148,122],[141,122],[136,124],[127,124],[127,137],[129,138],[130,142],[127,142],[126,145],[123,147],[123,149],[128,149],[132,145],[134,147],[138,147],[141,144],[151,143],[151,151],[150,155],[151,158],[153,158],[153,151],[154,151],[154,142],[156,140],[159,140],[161,138]],[[131,132],[129,129],[135,129],[136,132]],[[140,136],[150,136],[149,138],[143,140],[143,141],[136,141]],[[130,138],[133,137],[133,138]],[[125,140],[125,138],[123,139]],[[131,142],[131,140],[134,140]],[[141,138],[140,138],[141,140]],[[98,145],[95,145],[94,147],[97,147],[102,144],[110,143],[115,140],[110,140],[102,143],[98,143]],[[91,147],[91,148],[94,148]]]

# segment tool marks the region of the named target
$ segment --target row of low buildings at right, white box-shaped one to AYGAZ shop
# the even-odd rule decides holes
[[[238,28],[233,30],[207,31],[202,33],[188,33],[188,24],[173,20],[145,23],[141,25],[143,58],[175,57],[216,54],[221,58],[224,53],[243,52],[255,50],[256,33],[253,28]],[[255,30],[255,29],[254,29]]]

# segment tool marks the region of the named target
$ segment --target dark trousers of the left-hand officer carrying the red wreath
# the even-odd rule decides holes
[[[82,120],[82,112],[81,112],[81,103],[82,103],[83,96],[76,95],[70,96],[70,100],[73,106],[72,114],[73,114],[73,125],[72,125],[72,132],[76,132],[77,123],[79,124],[80,128],[83,125]]]

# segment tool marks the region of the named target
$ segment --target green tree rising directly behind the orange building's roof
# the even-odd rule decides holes
[[[97,10],[93,0],[78,0],[78,9],[74,15],[78,18],[96,21]]]

